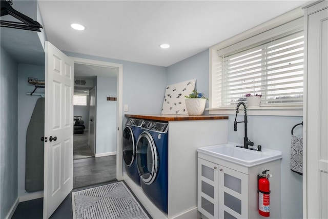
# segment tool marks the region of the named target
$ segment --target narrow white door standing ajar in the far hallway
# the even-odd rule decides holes
[[[96,87],[90,90],[89,95],[89,146],[93,153],[96,154]]]

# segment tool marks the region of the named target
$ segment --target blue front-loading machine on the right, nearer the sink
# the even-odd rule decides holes
[[[136,160],[140,185],[149,199],[168,213],[168,123],[144,121]]]

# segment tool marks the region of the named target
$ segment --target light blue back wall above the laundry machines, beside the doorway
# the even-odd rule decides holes
[[[94,59],[123,65],[124,114],[160,114],[167,85],[166,68],[99,56],[65,52],[68,56]],[[123,123],[126,120],[124,118]]]

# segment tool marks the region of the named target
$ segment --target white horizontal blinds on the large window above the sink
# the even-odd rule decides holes
[[[301,105],[303,47],[303,30],[294,28],[233,51],[219,51],[213,78],[218,107],[246,101],[245,94],[262,95],[262,106]]]

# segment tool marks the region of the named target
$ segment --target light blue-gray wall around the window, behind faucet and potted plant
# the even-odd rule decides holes
[[[209,94],[209,50],[200,52],[167,68],[168,85],[196,78],[196,88]],[[208,104],[208,103],[207,103]],[[208,105],[207,105],[208,106]],[[233,131],[235,115],[229,115],[228,141],[243,141],[243,124]],[[238,121],[243,117],[238,116]],[[248,135],[255,145],[282,151],[281,217],[302,218],[302,176],[290,170],[291,129],[301,116],[248,116]],[[218,130],[219,131],[219,130]],[[301,126],[294,134],[302,136]],[[274,177],[274,176],[273,176]],[[256,200],[254,200],[256,202]],[[274,209],[271,209],[274,211]]]

